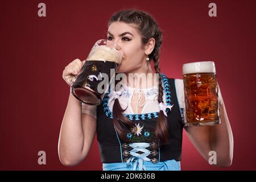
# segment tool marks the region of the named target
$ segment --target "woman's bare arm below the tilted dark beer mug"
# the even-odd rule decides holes
[[[65,166],[80,163],[88,154],[96,134],[96,118],[81,113],[81,102],[69,94],[59,136],[59,158]]]

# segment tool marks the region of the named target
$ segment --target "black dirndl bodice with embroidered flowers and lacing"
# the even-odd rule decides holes
[[[183,121],[177,101],[175,79],[167,78],[164,75],[162,78],[166,103],[167,105],[174,105],[171,110],[167,109],[170,143],[162,146],[154,138],[153,129],[158,113],[126,115],[127,118],[133,120],[135,125],[134,130],[131,129],[131,133],[127,134],[128,142],[123,142],[114,129],[113,114],[108,108],[108,94],[106,94],[102,104],[97,106],[97,140],[102,163],[126,162],[131,157],[129,151],[133,149],[129,147],[129,143],[150,143],[147,149],[151,151],[151,154],[147,158],[152,159],[152,162],[181,160]],[[136,132],[136,129],[139,129],[140,132],[138,130]],[[139,153],[143,152],[139,151]]]

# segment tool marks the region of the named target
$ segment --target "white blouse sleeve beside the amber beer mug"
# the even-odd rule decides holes
[[[180,107],[180,114],[183,125],[186,126],[187,119],[185,117],[185,97],[184,97],[184,84],[182,79],[175,79],[175,89],[177,94],[177,101]]]

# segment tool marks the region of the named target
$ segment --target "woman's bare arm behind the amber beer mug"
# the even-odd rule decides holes
[[[185,127],[188,138],[191,140],[200,154],[208,161],[209,151],[216,151],[217,166],[228,167],[233,159],[233,134],[230,127],[225,104],[221,96],[220,119],[221,124],[216,126]]]

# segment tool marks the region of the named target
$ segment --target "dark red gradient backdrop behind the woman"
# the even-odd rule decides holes
[[[47,16],[38,16],[46,3]],[[217,4],[217,17],[208,5]],[[110,16],[135,7],[152,14],[163,31],[160,69],[181,78],[182,64],[213,60],[234,135],[234,159],[217,168],[200,156],[184,133],[183,170],[256,169],[255,1],[1,1],[0,169],[101,170],[97,139],[89,156],[64,167],[57,155],[69,86],[65,66],[85,59],[106,38]],[[38,164],[38,151],[47,164]]]

